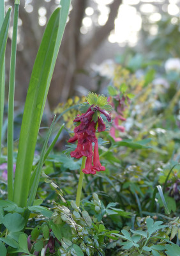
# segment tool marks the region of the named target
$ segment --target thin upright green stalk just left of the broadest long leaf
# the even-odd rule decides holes
[[[19,16],[19,3],[15,1],[13,17],[13,37],[11,43],[10,84],[8,97],[8,200],[13,200],[13,115],[15,92],[15,63],[17,51],[17,24]]]

